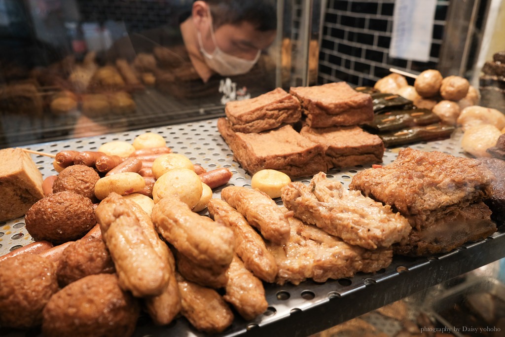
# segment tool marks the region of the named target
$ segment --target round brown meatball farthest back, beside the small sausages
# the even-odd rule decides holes
[[[94,200],[94,184],[100,176],[85,165],[71,165],[58,174],[53,183],[53,193],[71,191]]]

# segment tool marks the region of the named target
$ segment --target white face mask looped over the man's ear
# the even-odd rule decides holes
[[[209,11],[209,17],[211,18],[210,11]],[[221,49],[219,49],[216,43],[216,37],[214,36],[214,29],[212,28],[212,18],[210,20],[210,25],[211,25],[211,37],[215,45],[215,49],[214,52],[212,52],[212,55],[205,51],[204,45],[201,41],[200,32],[199,31],[197,32],[200,52],[201,54],[204,55],[205,63],[209,66],[209,68],[211,68],[221,76],[240,75],[245,74],[246,72],[251,70],[251,68],[256,64],[256,62],[258,62],[261,51],[258,51],[258,54],[256,55],[255,59],[250,61],[238,58],[230,54],[226,54]]]

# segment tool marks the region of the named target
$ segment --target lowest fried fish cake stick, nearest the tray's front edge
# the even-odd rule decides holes
[[[182,299],[181,313],[196,329],[222,332],[233,322],[233,313],[223,298],[211,288],[185,280],[177,274]]]

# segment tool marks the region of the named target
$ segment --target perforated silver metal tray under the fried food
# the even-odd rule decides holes
[[[250,176],[233,161],[233,153],[220,136],[216,119],[162,126],[150,129],[114,133],[104,136],[41,143],[31,150],[56,154],[62,150],[95,151],[111,140],[133,141],[146,131],[164,136],[173,152],[187,156],[194,164],[206,169],[228,167],[233,172],[230,184],[250,187]],[[464,157],[460,147],[461,132],[451,138],[410,147],[423,151],[441,151]],[[387,149],[384,164],[396,159],[400,149]],[[56,174],[53,159],[32,155],[43,176]],[[370,166],[330,170],[328,177],[348,186],[352,176]],[[310,177],[299,179],[309,182]],[[214,191],[220,197],[220,189]],[[278,204],[282,204],[278,200]],[[0,255],[31,242],[23,218],[0,222]],[[505,257],[505,231],[499,230],[479,242],[473,242],[443,255],[429,258],[394,257],[392,264],[376,273],[358,273],[355,277],[330,280],[325,283],[302,282],[294,286],[265,284],[268,310],[252,321],[237,317],[220,336],[308,336],[350,318],[380,308],[386,304],[422,291],[429,286]],[[238,316],[238,315],[236,315]],[[10,336],[22,334],[8,334]],[[167,327],[150,323],[141,317],[135,336],[203,336],[184,318]]]

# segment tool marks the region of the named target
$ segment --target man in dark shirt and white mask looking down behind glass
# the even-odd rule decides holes
[[[179,98],[219,98],[231,84],[250,91],[273,75],[262,51],[276,37],[276,7],[276,0],[196,0],[178,27],[130,33],[128,44],[116,44],[110,56],[154,55],[158,89]]]

